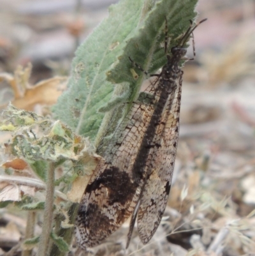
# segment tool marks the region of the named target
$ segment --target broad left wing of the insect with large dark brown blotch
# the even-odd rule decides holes
[[[154,87],[151,85],[147,92],[154,93]],[[98,245],[133,213],[143,181],[133,177],[132,166],[153,110],[153,104],[133,105],[131,114],[117,128],[116,140],[108,146],[105,159],[94,170],[75,225],[80,247]]]

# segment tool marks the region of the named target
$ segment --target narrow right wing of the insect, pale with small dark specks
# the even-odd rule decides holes
[[[157,128],[148,178],[143,189],[138,210],[138,232],[144,244],[148,243],[157,230],[170,193],[171,178],[179,138],[180,100],[182,71],[179,83],[169,97],[163,111],[161,124]]]

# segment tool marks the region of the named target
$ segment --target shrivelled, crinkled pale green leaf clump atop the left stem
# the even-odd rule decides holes
[[[22,156],[29,162],[44,181],[48,161],[57,165],[66,160],[78,161],[89,148],[89,143],[84,138],[73,133],[60,121],[53,122],[33,112],[18,110],[12,105],[4,110],[3,117],[5,124],[15,124],[15,136],[6,144],[6,148],[13,155]],[[34,130],[37,131],[36,134]]]

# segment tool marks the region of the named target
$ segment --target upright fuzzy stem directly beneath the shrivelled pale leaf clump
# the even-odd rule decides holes
[[[38,246],[38,256],[47,256],[49,250],[50,232],[52,231],[53,207],[54,207],[54,179],[55,163],[50,163],[47,175],[46,200],[43,213],[43,227]]]

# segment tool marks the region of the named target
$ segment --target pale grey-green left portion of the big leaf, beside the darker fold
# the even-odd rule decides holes
[[[134,33],[143,0],[124,0],[109,8],[109,17],[78,47],[68,91],[53,111],[76,133],[94,139],[104,114],[97,113],[112,98],[113,84],[106,72]]]

